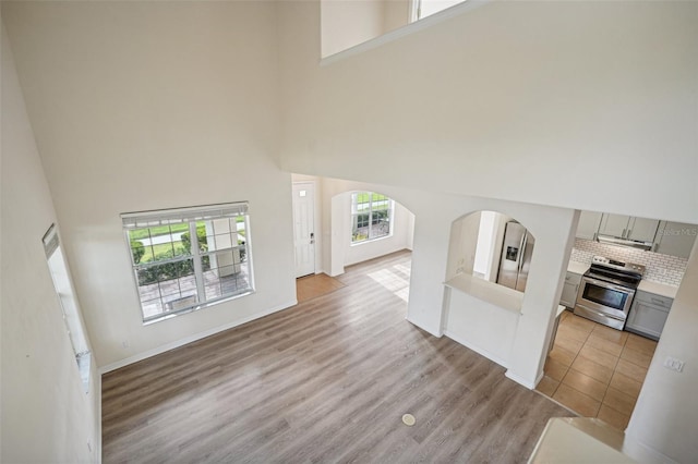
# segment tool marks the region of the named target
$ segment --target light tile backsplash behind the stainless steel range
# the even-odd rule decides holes
[[[575,247],[571,251],[569,260],[591,265],[591,258],[594,255],[642,265],[647,267],[645,271],[646,280],[675,286],[681,284],[688,264],[688,259],[677,256],[661,255],[583,239],[575,240]]]

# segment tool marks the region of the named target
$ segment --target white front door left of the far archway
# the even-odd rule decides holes
[[[293,245],[296,277],[315,273],[315,185],[293,183]]]

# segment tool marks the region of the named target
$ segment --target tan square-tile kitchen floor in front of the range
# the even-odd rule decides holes
[[[537,390],[624,430],[657,342],[566,310]]]

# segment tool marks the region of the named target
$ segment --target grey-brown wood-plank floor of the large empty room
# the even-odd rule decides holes
[[[104,462],[525,462],[571,414],[406,321],[370,276],[409,265],[350,267],[332,293],[106,374]]]

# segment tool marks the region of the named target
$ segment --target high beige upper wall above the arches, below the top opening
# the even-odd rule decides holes
[[[282,2],[282,166],[698,222],[696,23],[697,2],[490,2],[321,65],[318,3]]]

